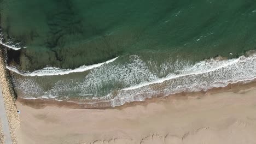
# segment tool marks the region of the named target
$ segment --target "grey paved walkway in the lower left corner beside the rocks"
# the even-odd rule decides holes
[[[0,120],[2,123],[3,135],[4,135],[4,143],[5,144],[12,144],[13,141],[11,140],[10,136],[10,129],[7,119],[7,114],[4,107],[3,95],[2,95],[2,88],[0,86]]]

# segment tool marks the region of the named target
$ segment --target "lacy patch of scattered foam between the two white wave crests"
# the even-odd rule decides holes
[[[92,70],[80,84],[80,95],[93,94],[100,97],[104,87],[127,87],[158,79],[138,56],[132,55],[129,60],[128,63],[109,64]]]

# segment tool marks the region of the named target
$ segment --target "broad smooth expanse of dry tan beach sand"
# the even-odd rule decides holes
[[[16,104],[18,143],[256,143],[256,88],[106,110]]]

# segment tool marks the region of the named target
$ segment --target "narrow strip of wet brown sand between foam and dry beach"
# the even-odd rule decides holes
[[[176,94],[170,94],[167,96],[164,95],[155,95],[152,98],[146,98],[144,101],[131,101],[129,103],[125,103],[124,105],[119,105],[112,107],[110,105],[110,101],[89,101],[92,103],[84,103],[79,104],[76,103],[78,101],[66,101],[66,100],[55,100],[55,99],[23,99],[17,98],[17,101],[22,105],[33,107],[34,109],[44,109],[46,106],[57,106],[57,107],[66,107],[70,109],[124,109],[125,107],[135,106],[135,105],[147,105],[149,103],[155,103],[156,101],[161,101],[165,99],[181,99],[181,98],[188,98],[188,97],[195,97],[200,95],[203,97],[207,94],[216,94],[216,93],[223,93],[223,92],[234,92],[237,89],[249,89],[252,87],[256,87],[256,79],[251,80],[249,82],[236,82],[236,83],[229,83],[225,87],[214,87],[208,89],[207,91],[199,91],[199,92],[181,92]]]

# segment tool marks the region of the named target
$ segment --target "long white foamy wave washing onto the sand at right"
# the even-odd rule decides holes
[[[154,95],[170,95],[180,92],[206,91],[213,87],[225,87],[229,83],[249,82],[256,78],[256,55],[224,61],[210,59],[184,69],[179,75],[120,89],[110,100],[118,106],[131,101],[144,101]],[[113,94],[108,95],[113,97]]]

